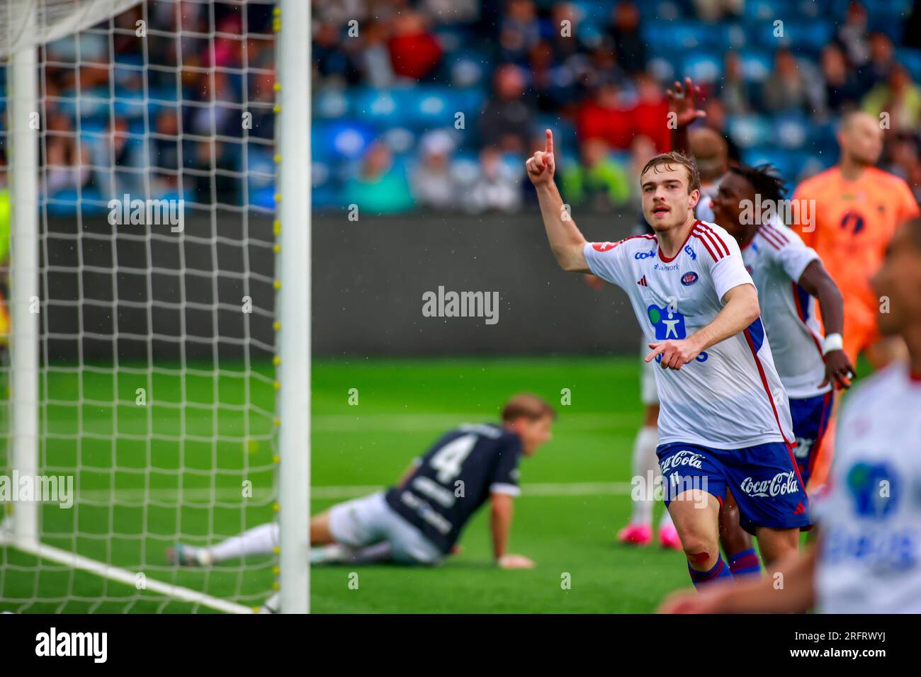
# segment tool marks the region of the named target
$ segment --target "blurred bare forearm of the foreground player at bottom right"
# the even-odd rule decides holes
[[[782,560],[764,578],[736,578],[727,585],[671,595],[659,613],[802,613],[815,604],[816,546]],[[782,578],[778,578],[782,577]],[[777,585],[782,581],[783,585]]]

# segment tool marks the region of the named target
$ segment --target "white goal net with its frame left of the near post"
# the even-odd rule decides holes
[[[278,587],[277,548],[165,551],[278,519],[279,24],[271,0],[0,0],[2,611]]]

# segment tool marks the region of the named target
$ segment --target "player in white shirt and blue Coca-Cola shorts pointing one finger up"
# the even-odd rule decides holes
[[[566,270],[627,293],[659,363],[659,465],[665,502],[691,578],[729,577],[718,546],[719,503],[732,487],[740,523],[768,564],[797,549],[809,499],[793,460],[789,405],[759,319],[758,293],[739,245],[694,218],[700,179],[680,153],[640,174],[655,235],[587,242],[554,183],[554,137],[527,161],[547,238]]]

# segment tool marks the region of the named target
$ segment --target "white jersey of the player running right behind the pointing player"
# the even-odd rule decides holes
[[[759,228],[742,250],[745,269],[758,288],[774,365],[787,397],[796,400],[832,390],[831,384],[819,387],[825,361],[815,299],[798,284],[806,266],[818,258],[797,233],[779,223]]]

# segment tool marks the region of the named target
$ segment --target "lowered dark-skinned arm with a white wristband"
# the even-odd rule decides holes
[[[819,310],[822,312],[822,326],[825,328],[825,344],[822,346],[825,379],[820,387],[832,383],[836,389],[850,388],[854,366],[845,355],[841,338],[845,330],[845,298],[819,259],[806,266],[799,276],[799,286],[819,299]]]

